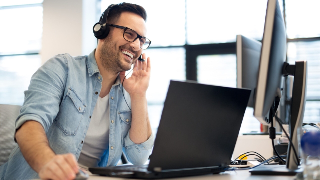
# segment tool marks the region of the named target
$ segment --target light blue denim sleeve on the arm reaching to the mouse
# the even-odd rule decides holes
[[[59,112],[68,76],[67,60],[57,55],[47,60],[32,75],[28,90],[16,119],[15,132],[29,120],[39,122],[47,132]],[[16,141],[16,139],[14,139]]]

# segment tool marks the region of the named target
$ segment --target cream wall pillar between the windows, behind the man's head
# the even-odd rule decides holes
[[[42,63],[61,53],[88,55],[97,45],[92,32],[97,13],[97,0],[44,0]]]

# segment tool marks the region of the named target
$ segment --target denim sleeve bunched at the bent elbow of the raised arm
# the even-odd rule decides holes
[[[154,144],[153,132],[147,141],[141,144],[135,144],[129,137],[130,130],[124,137],[125,155],[129,162],[134,165],[144,164],[150,155],[152,146]]]

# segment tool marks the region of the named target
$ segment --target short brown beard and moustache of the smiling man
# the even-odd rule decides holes
[[[135,59],[132,59],[132,63],[121,61],[124,59],[119,53],[121,49],[126,49],[134,53]],[[130,46],[119,46],[117,47],[116,42],[111,39],[111,36],[107,36],[105,42],[102,44],[100,51],[100,60],[103,68],[108,72],[117,74],[121,71],[128,71],[131,69],[131,65],[137,59],[137,52]]]

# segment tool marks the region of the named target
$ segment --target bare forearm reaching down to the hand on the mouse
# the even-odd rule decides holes
[[[55,156],[42,125],[37,121],[26,121],[15,137],[23,157],[37,173]]]

